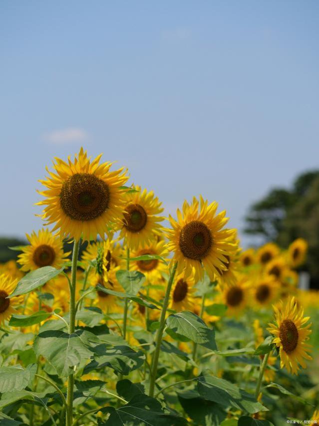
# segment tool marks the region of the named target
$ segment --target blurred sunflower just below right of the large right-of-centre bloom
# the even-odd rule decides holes
[[[245,276],[238,276],[236,284],[224,288],[222,300],[227,305],[228,316],[238,316],[249,300],[249,283]]]

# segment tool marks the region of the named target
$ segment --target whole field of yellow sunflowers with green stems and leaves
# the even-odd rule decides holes
[[[216,201],[167,218],[128,178],[81,148],[39,180],[48,227],[0,265],[0,425],[319,423],[307,241],[243,250]]]

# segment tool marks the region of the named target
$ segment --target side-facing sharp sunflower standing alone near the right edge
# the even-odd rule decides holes
[[[306,368],[303,358],[312,359],[308,353],[311,346],[306,343],[311,333],[311,323],[306,325],[310,318],[304,317],[304,309],[297,305],[295,297],[290,297],[285,304],[281,300],[274,310],[275,324],[269,324],[267,329],[275,336],[274,343],[279,347],[280,366],[297,374],[299,364]]]

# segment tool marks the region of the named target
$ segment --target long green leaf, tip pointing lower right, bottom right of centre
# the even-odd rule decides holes
[[[233,406],[250,414],[257,411],[268,411],[254,395],[240,389],[235,384],[223,378],[213,376],[198,377],[197,389],[199,394],[209,401],[228,407]]]

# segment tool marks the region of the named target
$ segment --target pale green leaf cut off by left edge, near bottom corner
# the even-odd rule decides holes
[[[28,386],[36,373],[36,364],[30,364],[25,369],[17,366],[0,367],[0,393],[22,390]]]

